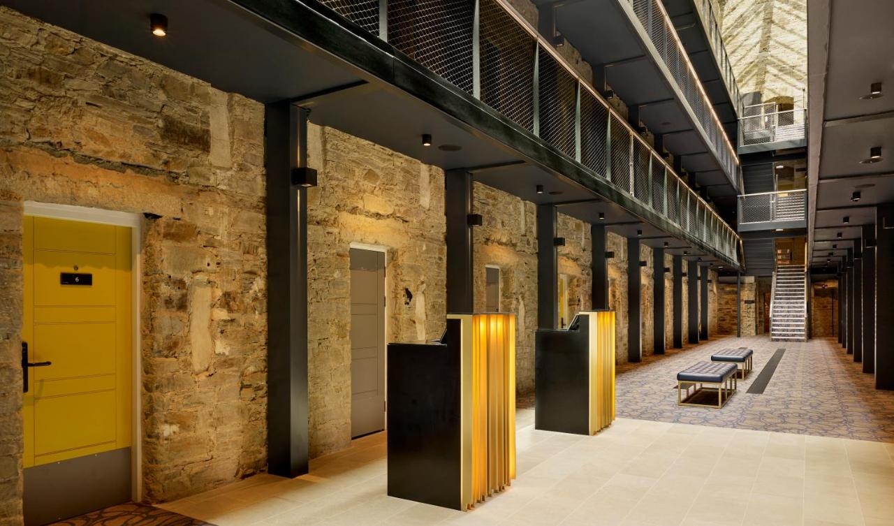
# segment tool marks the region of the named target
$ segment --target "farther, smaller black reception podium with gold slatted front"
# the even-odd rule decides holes
[[[536,334],[535,428],[594,435],[615,418],[615,313],[582,310]]]

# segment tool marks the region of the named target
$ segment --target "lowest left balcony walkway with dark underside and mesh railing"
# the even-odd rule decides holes
[[[740,267],[730,225],[501,0],[0,4],[671,254]],[[164,39],[141,23],[157,11]]]

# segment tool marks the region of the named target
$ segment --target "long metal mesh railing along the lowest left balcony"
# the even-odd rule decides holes
[[[652,9],[654,15],[654,0],[636,2],[639,13]],[[730,225],[503,0],[480,0],[477,12],[475,3],[458,0],[387,0],[387,21],[378,20],[368,0],[324,4],[374,35],[386,27],[387,41],[397,50],[535,132],[595,176],[608,178],[683,232],[715,240],[711,248],[738,263],[738,235]],[[648,20],[655,28],[665,26],[662,17]],[[671,34],[662,42],[656,44],[660,50],[677,47]],[[667,55],[677,64],[673,67],[687,65],[678,55]],[[689,92],[696,89],[683,85]]]

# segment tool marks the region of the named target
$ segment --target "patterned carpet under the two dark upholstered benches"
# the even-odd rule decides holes
[[[714,351],[746,346],[755,370],[738,381],[723,409],[677,405],[677,373]],[[763,395],[746,393],[777,349],[785,349]],[[876,391],[838,342],[771,342],[766,336],[720,336],[685,349],[645,357],[618,368],[618,416],[723,428],[759,429],[822,437],[894,442],[894,392]]]

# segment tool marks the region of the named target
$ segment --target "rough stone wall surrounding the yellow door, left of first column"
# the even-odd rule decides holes
[[[24,200],[160,216],[139,257],[148,500],[263,470],[263,106],[6,8],[0,27],[4,517],[21,491]]]

